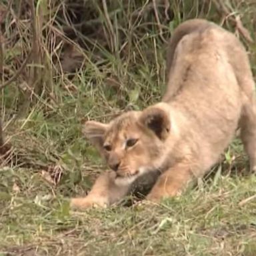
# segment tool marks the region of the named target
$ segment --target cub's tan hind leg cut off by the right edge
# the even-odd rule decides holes
[[[239,121],[241,140],[249,157],[250,170],[256,172],[256,101],[251,99],[244,107]]]

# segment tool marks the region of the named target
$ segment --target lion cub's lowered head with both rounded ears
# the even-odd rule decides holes
[[[169,113],[157,106],[129,111],[108,124],[87,121],[83,133],[117,173],[133,181],[159,168],[171,130]]]

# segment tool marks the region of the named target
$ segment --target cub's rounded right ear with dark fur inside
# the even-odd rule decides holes
[[[161,141],[167,139],[171,129],[169,114],[159,107],[148,107],[141,113],[139,122],[153,131]]]

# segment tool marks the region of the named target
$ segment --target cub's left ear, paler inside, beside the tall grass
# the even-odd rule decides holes
[[[89,139],[89,141],[95,147],[97,147],[99,151],[102,151],[104,143],[103,139],[108,127],[109,125],[104,123],[99,123],[96,121],[87,121],[83,125],[82,131],[83,135],[85,135],[85,137]]]

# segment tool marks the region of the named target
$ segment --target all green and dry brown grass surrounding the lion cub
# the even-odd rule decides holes
[[[160,205],[81,213],[68,203],[105,168],[83,121],[161,99],[165,42],[179,23],[204,17],[234,31],[255,73],[253,2],[1,1],[1,121],[11,147],[0,147],[1,256],[256,255],[256,177],[238,139],[209,177]]]

